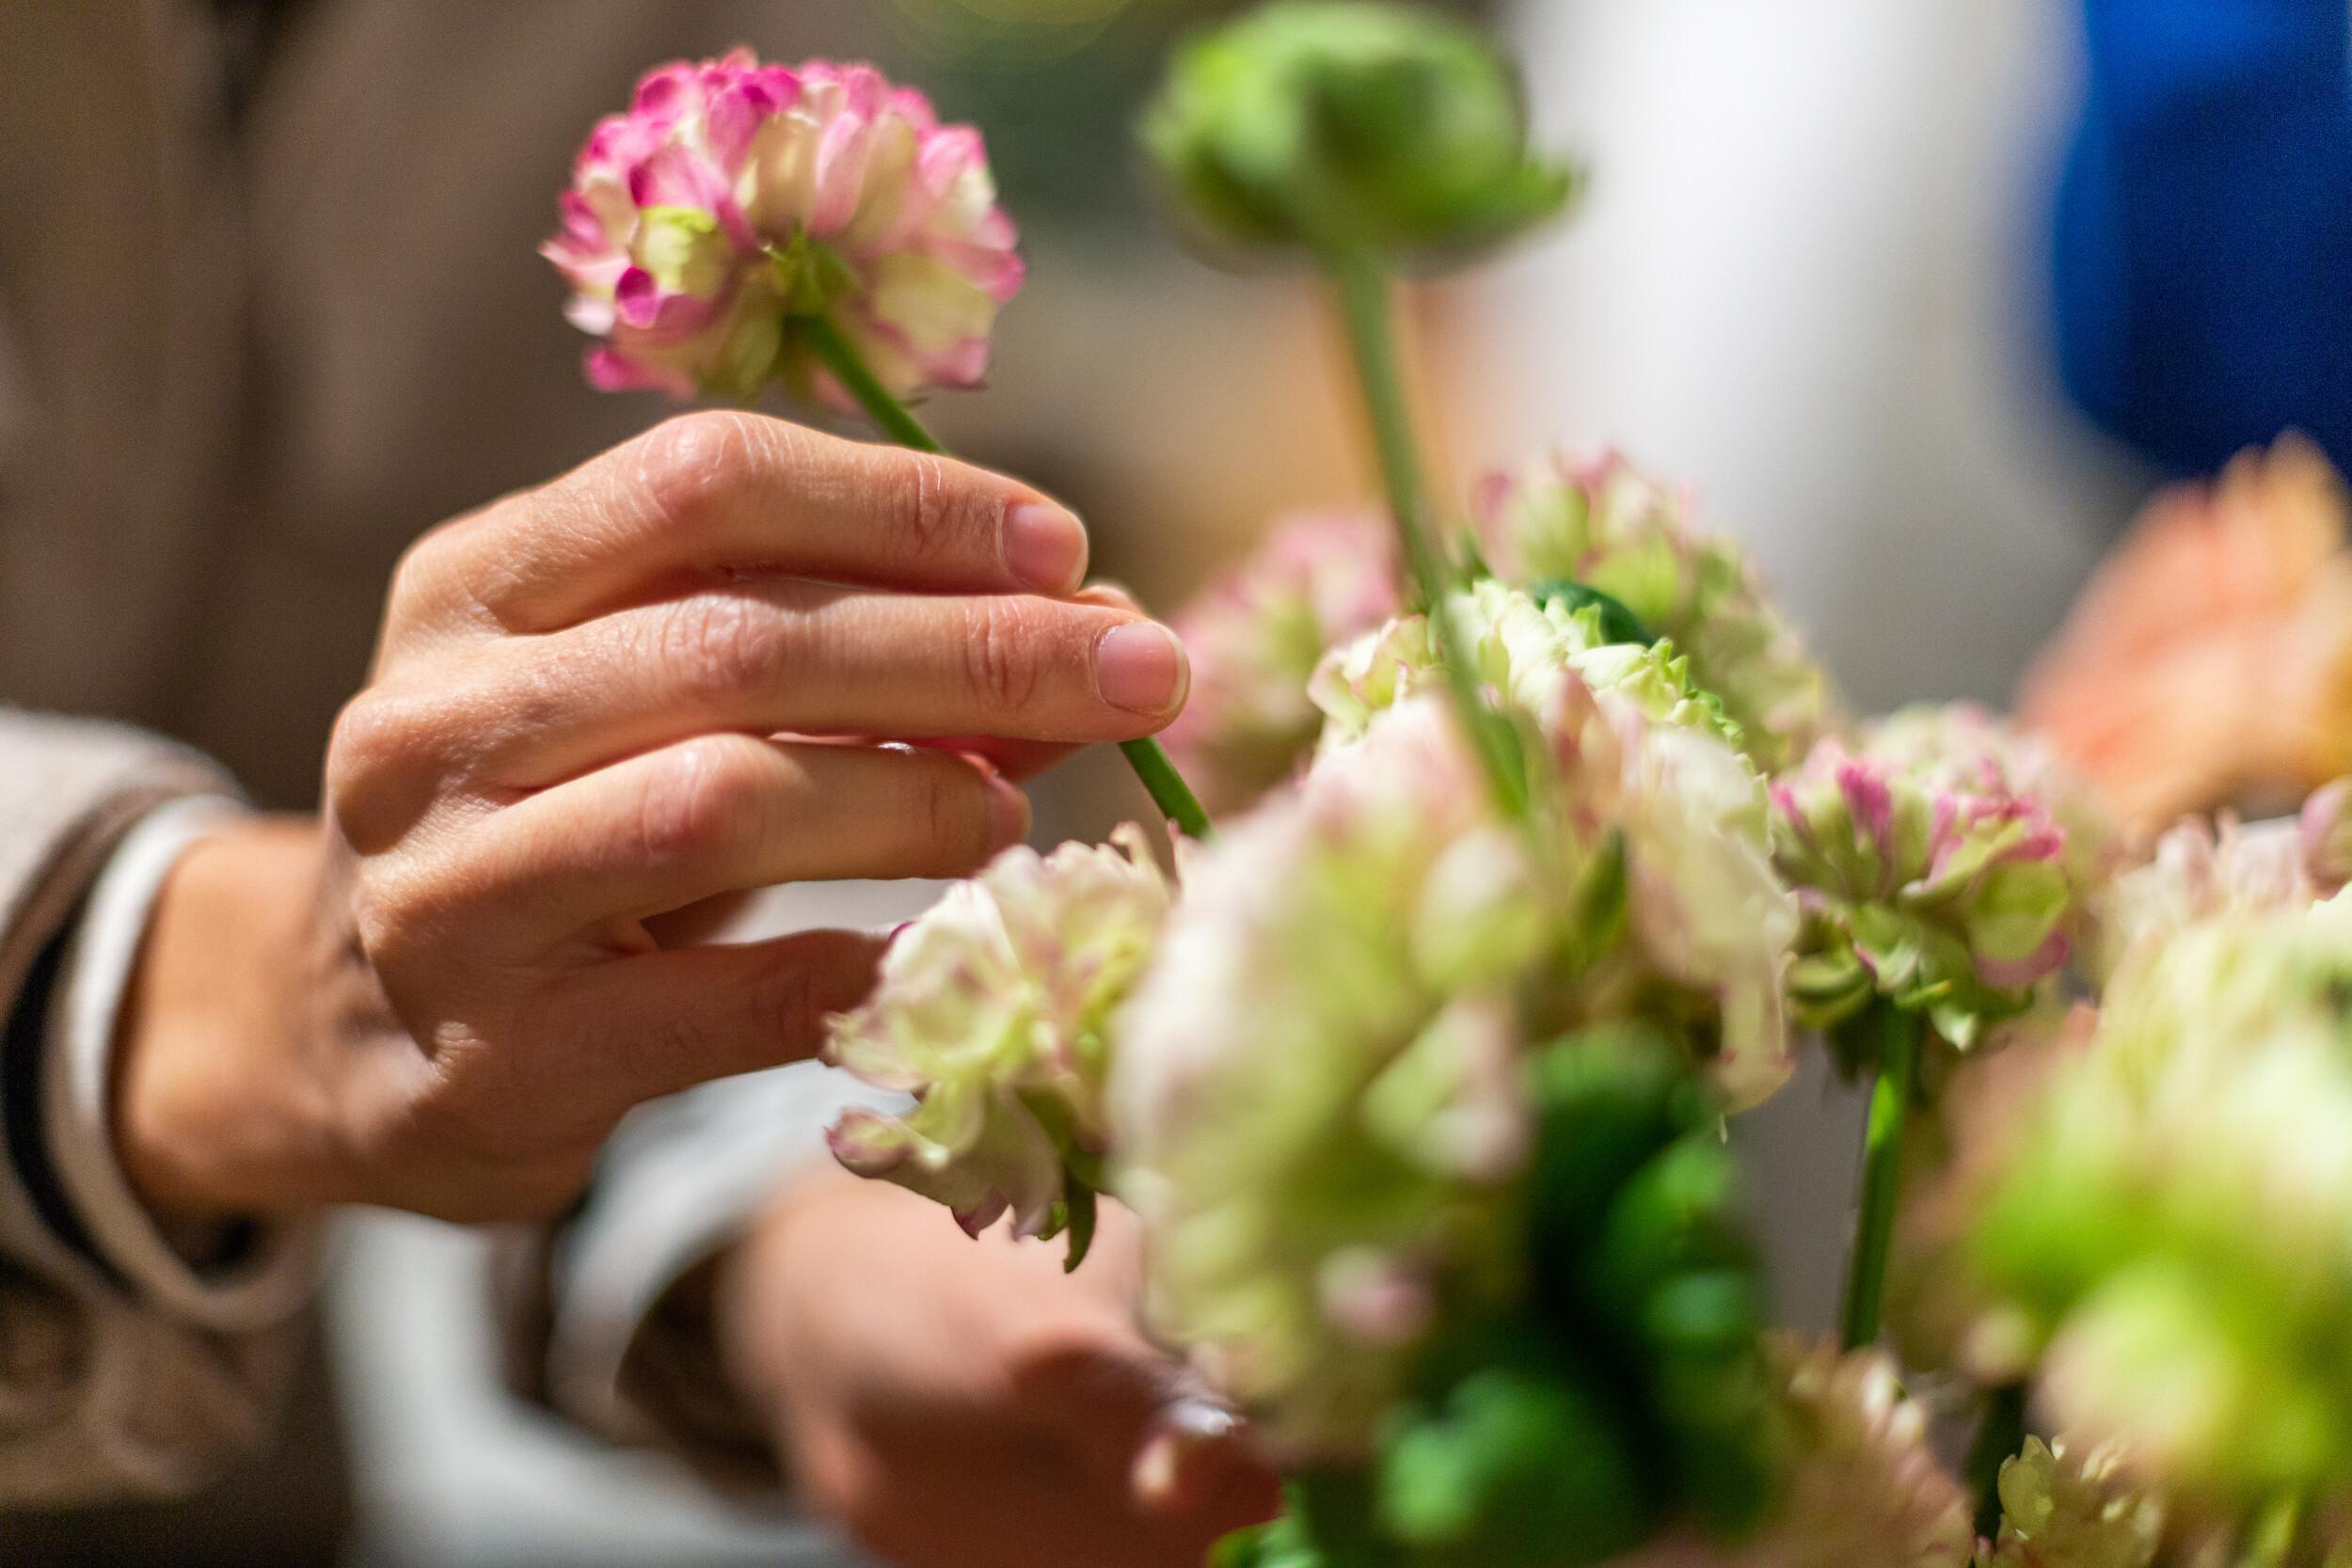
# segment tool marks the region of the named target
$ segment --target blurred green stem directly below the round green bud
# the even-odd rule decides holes
[[[1355,376],[1364,393],[1364,414],[1371,421],[1371,444],[1381,458],[1381,484],[1388,489],[1388,510],[1397,520],[1404,567],[1411,574],[1423,611],[1430,616],[1430,628],[1437,632],[1446,691],[1454,696],[1454,710],[1486,769],[1496,802],[1501,802],[1505,813],[1524,818],[1526,773],[1517,736],[1501,715],[1486,708],[1486,698],[1479,693],[1477,663],[1446,604],[1454,569],[1430,538],[1421,447],[1414,440],[1414,414],[1404,397],[1404,374],[1397,367],[1397,324],[1388,266],[1376,252],[1357,247],[1327,254],[1324,273],[1338,292],[1341,315],[1348,322]]]

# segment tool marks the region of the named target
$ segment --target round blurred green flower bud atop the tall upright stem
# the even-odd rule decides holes
[[[1287,0],[1188,42],[1143,146],[1216,247],[1463,254],[1559,214],[1510,63],[1409,5]]]

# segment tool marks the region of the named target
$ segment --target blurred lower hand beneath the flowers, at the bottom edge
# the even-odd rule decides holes
[[[906,1568],[1200,1568],[1277,1481],[1136,1331],[1138,1227],[1087,1262],[821,1168],[720,1274],[720,1342],[793,1483]]]

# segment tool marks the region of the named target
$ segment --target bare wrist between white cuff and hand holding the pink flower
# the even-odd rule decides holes
[[[193,844],[155,896],[111,1107],[122,1173],[158,1220],[287,1213],[336,1192],[301,997],[318,884],[318,827],[256,818]]]

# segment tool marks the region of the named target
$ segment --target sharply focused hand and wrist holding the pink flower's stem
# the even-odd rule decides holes
[[[318,825],[193,849],[118,1041],[162,1213],[536,1218],[635,1103],[814,1053],[877,938],[687,945],[746,889],[955,877],[1183,651],[1028,487],[694,414],[402,562]],[[915,745],[875,745],[873,741]]]

